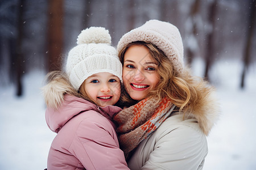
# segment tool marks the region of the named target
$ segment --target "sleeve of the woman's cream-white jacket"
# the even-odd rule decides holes
[[[205,135],[189,126],[162,134],[141,169],[202,169],[207,155]]]

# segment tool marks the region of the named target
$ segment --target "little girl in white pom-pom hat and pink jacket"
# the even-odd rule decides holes
[[[65,71],[47,75],[43,88],[46,122],[56,132],[49,150],[51,169],[129,169],[119,149],[112,118],[120,97],[122,64],[102,27],[80,33]]]

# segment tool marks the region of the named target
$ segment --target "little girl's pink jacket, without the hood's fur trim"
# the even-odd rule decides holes
[[[129,169],[111,121],[119,111],[70,95],[65,95],[59,109],[48,108],[47,125],[57,133],[49,150],[48,170]]]

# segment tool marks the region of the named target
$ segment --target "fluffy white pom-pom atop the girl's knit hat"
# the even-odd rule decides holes
[[[90,44],[90,43],[103,43],[111,44],[111,36],[109,31],[103,27],[90,27],[82,30],[80,35],[77,37],[78,45],[80,44]]]

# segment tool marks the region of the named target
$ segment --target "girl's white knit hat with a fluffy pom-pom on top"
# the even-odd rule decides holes
[[[84,29],[77,37],[77,46],[68,53],[65,70],[75,90],[89,76],[108,72],[122,82],[122,64],[111,44],[109,31],[103,27]]]

